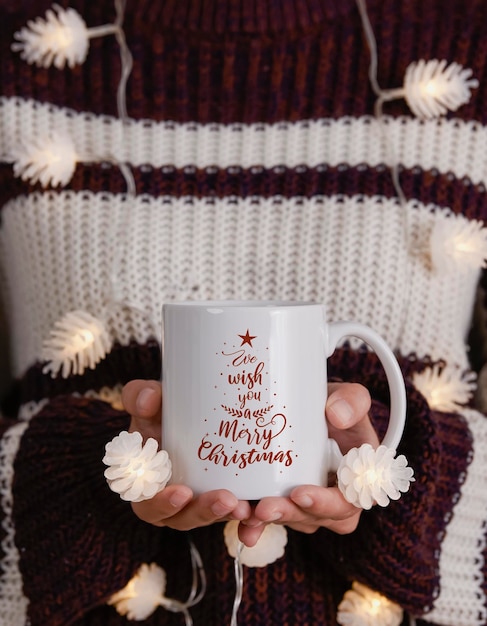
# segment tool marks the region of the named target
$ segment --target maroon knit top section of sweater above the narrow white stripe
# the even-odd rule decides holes
[[[329,2],[331,7],[331,0]],[[320,17],[318,0],[307,3],[296,0],[295,10],[283,13],[279,24],[269,15],[261,16],[259,10],[254,9],[258,3],[244,0],[230,5],[225,3],[228,7],[225,19],[220,16],[223,9],[215,9],[210,19],[211,11],[202,10],[207,3],[212,5],[210,0],[166,3],[167,7],[158,13],[155,9],[151,11],[148,1],[148,14],[153,15],[153,20],[146,19],[141,11],[137,13],[138,19],[131,19],[130,11],[135,8],[128,3],[125,29],[134,56],[127,94],[129,115],[229,123],[372,114],[375,96],[367,76],[369,53],[355,7],[348,4],[343,9],[349,10],[350,15],[338,25],[330,12],[327,13],[326,3]],[[480,25],[487,19],[485,3],[477,3],[467,11],[463,2],[455,0],[449,4],[449,10],[444,11],[440,0],[426,6],[417,2],[417,20],[411,22],[409,17],[408,28],[404,28],[394,0],[385,3],[380,14],[375,11],[373,2],[369,4],[371,21],[377,30],[379,82],[383,88],[401,86],[408,63],[437,56],[437,51],[433,55],[432,50],[437,49],[438,43],[443,46],[447,60],[472,68],[477,77],[485,74],[487,53],[481,52],[487,52],[487,44],[480,37]],[[242,12],[236,11],[237,5],[244,7]],[[103,3],[91,1],[74,6],[89,26],[105,23],[113,17],[111,4],[110,9]],[[40,0],[29,3],[33,18],[43,15],[47,7],[47,3]],[[278,10],[276,7],[280,4],[272,3],[272,7]],[[9,24],[15,24],[14,30],[20,29],[26,21],[26,9],[15,3],[12,13],[14,19]],[[249,39],[245,29],[252,30],[265,19],[269,26],[275,23],[276,29],[291,24],[293,29],[285,30],[279,37]],[[226,34],[212,33],[205,37],[191,29],[191,25],[207,22],[217,30],[220,23],[227,26],[230,23],[243,33],[227,30]],[[455,38],[449,37],[453,23],[460,33]],[[175,24],[180,24],[180,29],[174,28]],[[402,26],[400,36],[399,24]],[[431,28],[431,24],[435,24],[435,28]],[[306,28],[303,25],[307,25]],[[438,38],[438,32],[443,36]],[[0,81],[4,95],[15,94],[78,111],[116,115],[120,61],[113,37],[92,40],[87,61],[82,66],[62,71],[27,65],[19,54],[11,52],[12,40],[13,31],[7,32],[6,26],[2,28],[0,23]],[[338,63],[336,56],[330,54],[330,49],[336,47],[342,51]],[[400,55],[401,49],[417,50],[416,58]],[[393,53],[395,50],[400,56]],[[349,84],[353,85],[351,91],[345,87]],[[486,114],[481,113],[481,103],[486,97],[487,84],[481,81],[472,101],[461,107],[455,116],[486,123],[482,117]],[[404,102],[387,105],[386,112],[410,115]]]

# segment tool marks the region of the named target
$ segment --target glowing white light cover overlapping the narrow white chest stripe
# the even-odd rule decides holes
[[[48,137],[33,139],[12,153],[14,175],[43,187],[67,185],[73,177],[78,160],[68,135],[53,132]]]

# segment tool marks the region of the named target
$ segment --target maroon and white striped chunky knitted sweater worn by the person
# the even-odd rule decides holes
[[[0,260],[15,379],[0,428],[1,626],[124,624],[107,602],[143,563],[184,600],[188,539],[207,576],[194,623],[230,623],[223,526],[141,522],[102,464],[129,420],[121,385],[160,376],[162,303],[213,298],[318,301],[330,320],[379,332],[406,380],[399,452],[416,479],[351,535],[288,530],[284,556],[244,568],[239,623],[335,626],[357,581],[418,624],[487,624],[487,422],[469,404],[467,349],[486,257],[487,5],[367,2],[381,90],[422,59],[478,81],[431,119],[412,95],[376,105],[354,0],[123,5],[72,0],[88,29],[122,28],[88,38],[78,21],[78,56],[40,54],[44,67],[14,34],[62,10],[49,21],[49,0],[0,0]],[[72,311],[101,320],[111,349],[58,371],[45,342]],[[368,387],[383,433],[374,354],[345,343],[329,371]],[[183,617],[159,608],[146,623]]]

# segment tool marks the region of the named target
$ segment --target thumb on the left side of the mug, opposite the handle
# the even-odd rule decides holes
[[[122,402],[130,414],[130,432],[139,431],[144,439],[161,439],[161,385],[156,380],[131,380],[122,390]]]

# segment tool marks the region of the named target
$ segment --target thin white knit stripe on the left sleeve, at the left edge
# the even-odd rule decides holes
[[[0,440],[0,505],[4,514],[2,528],[5,532],[2,541],[5,557],[0,568],[0,626],[22,626],[27,623],[28,600],[22,591],[19,553],[12,520],[13,463],[27,426],[27,422],[12,426]]]

